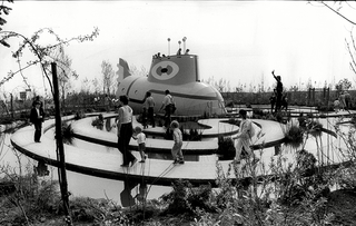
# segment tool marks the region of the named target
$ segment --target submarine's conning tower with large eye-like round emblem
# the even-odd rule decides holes
[[[200,81],[198,56],[176,55],[154,57],[147,80],[167,85],[184,85]]]

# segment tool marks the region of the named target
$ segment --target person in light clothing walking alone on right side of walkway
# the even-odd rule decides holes
[[[243,148],[248,154],[248,157],[253,157],[254,161],[256,163],[258,159],[251,151],[250,145],[251,145],[251,137],[254,136],[254,128],[251,125],[251,121],[247,119],[247,112],[244,109],[239,110],[239,115],[241,116],[241,121],[239,126],[238,134],[233,138],[235,141],[235,149],[236,149],[236,156],[235,161],[237,164],[241,160],[241,151]]]

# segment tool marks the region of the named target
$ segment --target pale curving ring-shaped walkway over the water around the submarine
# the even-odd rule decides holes
[[[113,117],[112,114],[103,115],[105,117]],[[91,139],[91,141],[109,145],[111,147],[116,146],[117,137],[115,132],[108,132],[103,130],[96,129],[91,126],[92,117],[83,118],[81,120],[72,122],[72,127],[75,132],[82,138]],[[235,131],[237,127],[231,125],[226,125],[220,121],[221,119],[205,119],[199,121],[200,124],[209,126],[211,129],[206,129],[204,132],[219,132],[219,131]],[[222,119],[225,120],[225,119]],[[275,121],[268,120],[258,120],[253,119],[255,122],[256,129],[259,129],[258,132],[261,135],[260,137],[255,137],[255,144],[268,144],[274,143],[278,139],[284,138],[284,126],[279,125]],[[41,143],[33,143],[33,127],[24,127],[14,132],[11,137],[11,143],[16,149],[23,153],[24,155],[36,159],[36,160],[44,160],[47,164],[58,166],[59,163],[57,160],[56,154],[56,140],[51,132],[48,130],[53,126],[53,120],[47,120],[43,124],[43,130],[47,131],[41,138]],[[137,121],[134,122],[136,125]],[[162,128],[155,128],[161,129]],[[325,136],[325,135],[324,135]],[[216,149],[217,148],[217,138],[208,139],[204,141],[185,141],[184,151],[189,154],[189,151],[194,154],[204,155],[206,149]],[[323,140],[327,140],[329,138],[323,138]],[[333,138],[330,138],[333,139]],[[337,144],[338,140],[336,138],[333,139],[333,144]],[[315,155],[318,154],[318,149],[315,148],[315,139],[309,139],[307,141],[306,147],[308,150],[316,151]],[[162,139],[148,139],[148,147],[161,149],[162,151],[170,153],[170,148],[172,147],[172,140],[162,140]],[[326,143],[319,144],[324,150],[326,150]],[[132,149],[136,149],[136,141],[131,139],[130,146]],[[283,148],[284,149],[284,148]],[[257,174],[268,174],[268,166],[271,159],[276,159],[275,156],[276,147],[265,147],[261,150],[255,150],[255,154],[260,157],[260,163],[257,164]],[[215,185],[216,178],[218,176],[217,166],[226,174],[231,166],[231,160],[218,160],[217,157],[210,156],[209,160],[199,160],[199,161],[186,161],[184,165],[172,165],[172,160],[161,160],[149,158],[146,164],[137,163],[134,167],[123,168],[120,167],[122,163],[121,154],[119,151],[106,153],[102,154],[100,151],[87,150],[79,147],[65,145],[66,151],[66,163],[67,169],[87,174],[97,177],[110,178],[110,179],[119,179],[125,180],[130,178],[130,180],[135,180],[138,183],[146,181],[147,184],[155,185],[171,185],[172,181],[177,179],[189,180],[192,184],[206,184],[210,183]],[[289,153],[288,153],[289,151]],[[285,151],[285,156],[289,159],[289,163],[293,163],[293,154],[296,150],[289,148]],[[138,157],[138,153],[134,151]],[[191,154],[190,153],[190,154]],[[339,156],[334,156],[333,159],[338,158]],[[263,167],[265,165],[265,167]],[[241,167],[245,167],[246,164],[243,161],[241,165],[237,166],[237,171],[241,173]],[[245,167],[246,168],[246,167]],[[239,177],[245,177],[248,175],[239,175]],[[234,174],[229,175],[230,178],[236,178]]]

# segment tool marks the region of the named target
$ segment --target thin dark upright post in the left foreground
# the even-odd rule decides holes
[[[53,100],[56,108],[56,141],[57,141],[57,160],[59,160],[58,177],[60,185],[60,193],[63,202],[63,209],[66,214],[66,222],[68,225],[71,224],[71,217],[69,214],[69,193],[66,173],[66,158],[65,158],[65,147],[63,138],[61,131],[61,115],[60,115],[60,102],[59,102],[59,88],[58,88],[58,77],[57,77],[57,63],[51,63],[52,78],[53,78]]]

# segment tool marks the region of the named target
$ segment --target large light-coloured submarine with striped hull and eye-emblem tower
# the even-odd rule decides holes
[[[169,90],[179,116],[211,116],[226,114],[221,94],[210,85],[200,81],[198,56],[175,55],[152,57],[148,76],[130,73],[127,61],[120,58],[117,98],[129,97],[129,105],[135,112],[141,112],[146,92],[155,99],[155,112],[164,101],[165,91]]]

